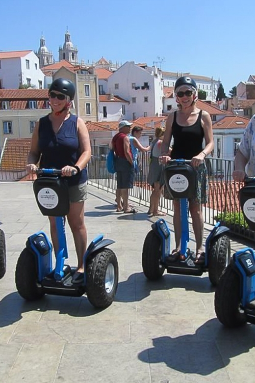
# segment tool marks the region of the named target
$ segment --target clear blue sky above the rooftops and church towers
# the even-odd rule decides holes
[[[66,28],[78,59],[147,62],[218,79],[225,93],[255,74],[252,0],[7,0],[0,50],[36,50],[43,31],[58,59]]]

